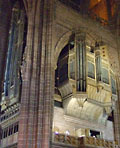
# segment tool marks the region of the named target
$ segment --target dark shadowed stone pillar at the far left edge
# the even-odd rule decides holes
[[[12,9],[10,1],[0,0],[0,100],[6,66],[11,13]]]

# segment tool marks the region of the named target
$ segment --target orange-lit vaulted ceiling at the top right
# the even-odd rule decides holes
[[[96,14],[104,20],[111,20],[117,11],[115,0],[72,0],[84,11]]]

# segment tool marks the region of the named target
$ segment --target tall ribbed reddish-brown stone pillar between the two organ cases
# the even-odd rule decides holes
[[[54,94],[53,0],[28,0],[18,148],[50,148]]]

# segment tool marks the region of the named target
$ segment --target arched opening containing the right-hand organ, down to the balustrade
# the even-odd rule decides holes
[[[55,70],[54,137],[59,141],[69,131],[69,136],[114,140],[110,116],[116,100],[107,45],[83,32],[70,35]],[[111,137],[106,137],[108,129]]]

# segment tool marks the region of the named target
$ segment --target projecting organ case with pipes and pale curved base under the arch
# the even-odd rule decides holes
[[[116,78],[103,41],[90,45],[85,33],[71,35],[56,69],[55,99],[65,115],[106,124],[117,100]]]

